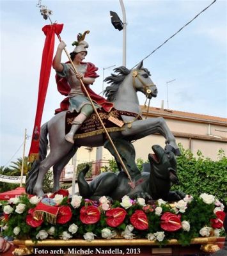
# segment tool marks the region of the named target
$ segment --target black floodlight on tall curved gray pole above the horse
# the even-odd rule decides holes
[[[123,0],[119,0],[121,4],[121,11],[122,11],[122,19],[119,18],[116,12],[111,13],[111,23],[113,24],[114,28],[121,31],[123,29],[123,56],[122,56],[122,65],[126,67],[126,13],[125,13],[125,6],[123,4]]]

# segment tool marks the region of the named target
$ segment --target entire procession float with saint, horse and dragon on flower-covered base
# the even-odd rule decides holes
[[[39,7],[43,18],[50,19],[52,12],[41,4]],[[150,79],[148,68],[143,67],[143,61],[132,69],[123,66],[114,69],[115,74],[106,78],[109,83],[105,90],[107,99],[96,95],[82,78],[78,78],[93,113],[80,123],[73,143],[65,136],[71,131],[78,113],[68,111],[68,99],[63,100],[56,115],[41,127],[54,37],[56,35],[61,41],[62,29],[63,24],[52,22],[43,28],[46,40],[29,152],[33,166],[26,181],[27,195],[1,202],[3,234],[13,237],[13,243],[19,246],[14,255],[61,255],[66,252],[145,255],[141,254],[141,246],[149,246],[152,252],[161,254],[165,248],[173,252],[173,246],[194,244],[200,245],[204,252],[218,250],[215,243],[217,237],[224,234],[224,205],[207,193],[193,196],[185,195],[184,191],[171,191],[171,186],[178,182],[176,156],[180,155],[175,137],[164,118],[143,119],[140,114],[137,92],[144,93],[149,100],[157,96],[157,86]],[[75,49],[86,45],[84,38],[88,33],[78,35]],[[76,75],[77,68],[70,54],[65,47],[62,50]],[[86,65],[89,74],[85,73],[84,77],[95,76],[97,69],[92,63]],[[59,92],[68,96],[70,84],[67,79],[56,76],[56,80]],[[131,141],[155,133],[164,136],[166,147],[153,145],[154,153],[149,154],[149,163],[140,172]],[[48,143],[51,151],[47,156]],[[70,195],[67,190],[60,189],[62,169],[78,148],[101,145],[116,159],[119,172],[101,173],[88,184],[85,175],[89,166],[86,166],[77,178],[79,193]],[[54,188],[52,195],[47,196],[43,193],[42,182],[51,167]],[[52,249],[45,253],[43,248]]]

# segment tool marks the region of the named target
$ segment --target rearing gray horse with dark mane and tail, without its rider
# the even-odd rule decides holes
[[[157,87],[150,79],[150,72],[143,67],[143,62],[136,68],[129,70],[126,67],[115,68],[116,74],[106,78],[110,85],[106,88],[107,100],[114,103],[114,108],[120,111],[136,113],[137,117],[122,115],[125,125],[121,131],[110,132],[111,138],[123,138],[127,141],[138,140],[158,132],[166,139],[166,149],[180,154],[175,137],[169,130],[164,118],[148,118],[139,120],[141,109],[137,92],[142,92],[148,99],[157,96]],[[54,191],[59,187],[59,178],[63,167],[74,156],[81,146],[100,147],[104,145],[105,136],[95,134],[86,138],[77,138],[74,145],[65,140],[65,118],[67,111],[58,113],[42,125],[40,131],[40,159],[33,163],[28,173],[26,192],[32,195],[43,196],[43,178],[53,166]],[[130,125],[129,125],[130,123]],[[49,134],[50,153],[47,155],[47,134]]]

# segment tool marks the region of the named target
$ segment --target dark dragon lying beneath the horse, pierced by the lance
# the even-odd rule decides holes
[[[98,200],[100,196],[104,195],[113,200],[121,200],[125,195],[133,199],[141,197],[146,200],[162,198],[162,200],[167,201],[178,201],[184,198],[185,194],[180,191],[169,191],[172,184],[178,182],[176,157],[173,152],[166,152],[159,145],[153,145],[154,154],[148,155],[150,164],[145,166],[146,169],[148,167],[148,170],[140,172],[135,163],[136,152],[132,143],[118,139],[114,140],[114,145],[126,164],[136,188],[132,189],[129,186],[127,175],[121,170],[118,173],[101,173],[88,184],[85,179],[85,175],[89,170],[87,165],[77,177],[79,195],[92,200]],[[116,157],[109,141],[104,144],[104,147]]]

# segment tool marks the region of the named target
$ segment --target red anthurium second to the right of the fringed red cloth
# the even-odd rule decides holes
[[[83,206],[80,213],[79,218],[84,224],[94,224],[100,220],[100,211],[93,205]]]

